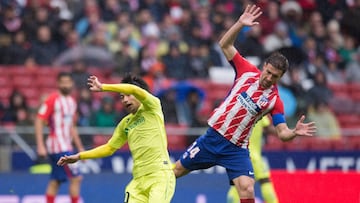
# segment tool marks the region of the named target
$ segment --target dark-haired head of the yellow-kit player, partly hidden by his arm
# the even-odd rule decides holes
[[[146,91],[149,91],[149,86],[141,78],[131,74],[127,74],[121,81],[121,83],[136,85]],[[140,107],[140,101],[137,100],[133,95],[120,94],[120,99],[124,108],[130,113],[136,113]]]

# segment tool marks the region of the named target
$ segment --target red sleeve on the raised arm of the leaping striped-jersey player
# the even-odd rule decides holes
[[[239,78],[242,74],[246,72],[260,72],[260,70],[256,66],[254,66],[248,60],[242,57],[239,52],[236,52],[236,54],[229,61],[229,63],[235,70],[236,78]]]

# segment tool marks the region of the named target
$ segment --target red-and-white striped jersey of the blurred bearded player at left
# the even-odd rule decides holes
[[[46,147],[49,154],[72,151],[71,128],[76,115],[76,102],[71,96],[53,93],[41,105],[38,117],[49,126]]]

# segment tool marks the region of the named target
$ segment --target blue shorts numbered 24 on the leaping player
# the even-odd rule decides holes
[[[254,178],[249,150],[231,143],[213,128],[209,128],[186,150],[180,162],[190,171],[222,166],[229,180],[242,175]]]

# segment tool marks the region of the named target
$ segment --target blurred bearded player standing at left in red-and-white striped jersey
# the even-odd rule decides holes
[[[37,153],[40,157],[48,156],[51,164],[50,181],[46,189],[47,203],[53,203],[62,182],[70,180],[69,194],[72,203],[79,201],[80,184],[82,177],[74,166],[59,167],[57,160],[73,151],[72,142],[78,151],[83,151],[76,128],[76,102],[70,95],[73,80],[70,73],[61,72],[57,76],[59,91],[50,94],[41,105],[35,119],[35,136]],[[48,125],[49,135],[44,143],[43,127]]]

